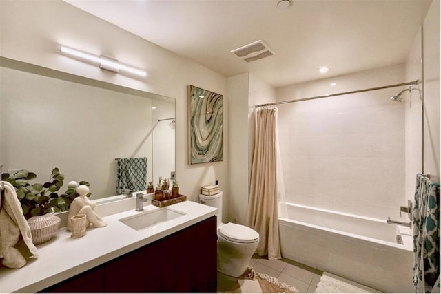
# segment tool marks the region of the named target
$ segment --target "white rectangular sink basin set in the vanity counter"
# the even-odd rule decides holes
[[[127,216],[127,218],[121,218],[119,221],[138,231],[151,227],[160,222],[174,220],[180,216],[185,216],[185,213],[170,209],[168,207],[163,207],[161,209],[155,209],[152,211],[143,211],[135,216]]]

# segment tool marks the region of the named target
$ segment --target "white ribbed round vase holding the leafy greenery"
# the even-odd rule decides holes
[[[48,242],[60,229],[61,220],[58,216],[46,213],[43,216],[32,216],[28,220],[34,245]]]

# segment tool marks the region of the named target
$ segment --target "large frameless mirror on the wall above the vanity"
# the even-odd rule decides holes
[[[34,182],[54,167],[90,183],[90,199],[116,195],[115,158],[147,157],[147,182],[175,170],[174,98],[0,58],[0,164]]]

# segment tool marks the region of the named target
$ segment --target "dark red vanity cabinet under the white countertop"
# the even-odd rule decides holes
[[[217,291],[216,216],[41,292]]]

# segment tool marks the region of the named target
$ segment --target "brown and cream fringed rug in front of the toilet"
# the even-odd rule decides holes
[[[296,288],[280,282],[276,277],[256,273],[248,267],[226,293],[297,293]]]

